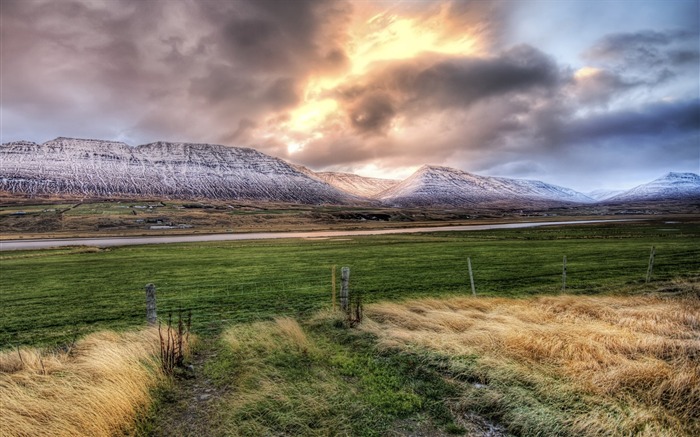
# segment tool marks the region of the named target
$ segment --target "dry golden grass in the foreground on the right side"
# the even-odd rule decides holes
[[[477,356],[534,391],[575,390],[601,405],[571,415],[587,435],[700,432],[698,284],[680,296],[423,299],[370,306],[364,329],[389,347]],[[549,386],[548,386],[549,385]]]

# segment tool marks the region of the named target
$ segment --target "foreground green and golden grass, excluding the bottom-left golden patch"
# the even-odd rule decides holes
[[[384,302],[357,329],[330,312],[236,324],[146,434],[695,436],[700,285],[673,285]]]

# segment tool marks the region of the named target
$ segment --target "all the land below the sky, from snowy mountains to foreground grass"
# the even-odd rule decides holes
[[[58,138],[0,155],[0,428],[44,432],[31,406],[65,435],[698,430],[694,173],[589,196],[208,144]]]

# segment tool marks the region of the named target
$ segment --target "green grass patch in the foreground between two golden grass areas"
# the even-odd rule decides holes
[[[159,396],[150,429],[169,435],[380,436],[398,421],[460,429],[442,400],[457,392],[438,373],[408,355],[383,354],[372,337],[341,325],[324,315],[304,327],[281,319],[227,329],[203,369],[218,393],[205,419],[195,426],[177,419],[180,402],[191,394],[175,387]]]

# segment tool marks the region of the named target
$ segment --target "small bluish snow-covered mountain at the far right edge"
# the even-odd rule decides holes
[[[649,183],[605,199],[606,203],[659,200],[700,201],[700,176],[695,173],[668,173]]]

